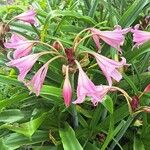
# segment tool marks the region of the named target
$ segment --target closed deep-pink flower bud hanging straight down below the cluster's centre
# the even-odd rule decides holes
[[[66,66],[66,76],[63,85],[63,97],[66,107],[69,107],[72,99],[72,88],[69,81],[68,66]]]

